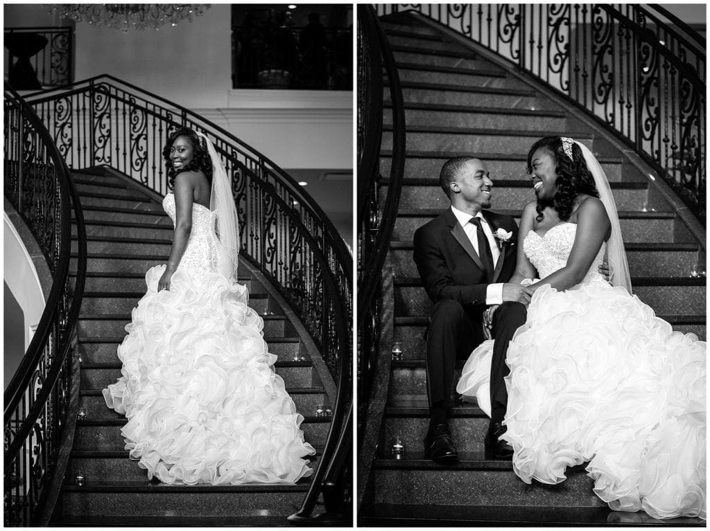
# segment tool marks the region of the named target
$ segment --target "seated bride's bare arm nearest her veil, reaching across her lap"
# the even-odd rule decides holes
[[[562,269],[558,269],[529,286],[528,293],[532,295],[543,284],[550,284],[559,290],[569,289],[579,284],[589,272],[610,228],[611,223],[609,223],[603,203],[596,197],[586,199],[577,211],[577,233],[574,235],[574,243],[567,258],[567,264]]]

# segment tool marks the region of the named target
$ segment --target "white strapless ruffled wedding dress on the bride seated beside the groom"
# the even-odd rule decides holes
[[[545,278],[564,267],[577,225],[525,235]],[[573,289],[535,291],[510,341],[501,439],[525,483],[564,481],[588,462],[594,492],[613,510],[706,518],[706,343],[673,332],[652,309],[598,272],[605,246]],[[469,357],[457,391],[490,415],[493,340]]]

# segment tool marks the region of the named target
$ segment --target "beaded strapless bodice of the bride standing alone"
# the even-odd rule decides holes
[[[170,193],[163,199],[163,209],[175,227],[175,196]],[[216,213],[198,203],[192,203],[192,230],[190,240],[180,259],[178,269],[196,274],[216,272],[219,263],[219,245],[214,232]]]

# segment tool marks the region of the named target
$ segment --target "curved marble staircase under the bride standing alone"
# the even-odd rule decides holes
[[[301,506],[310,478],[297,484],[166,485],[148,481],[128,457],[120,429],[126,419],[107,408],[101,390],[121,374],[116,347],[131,309],[146,292],[145,274],[165,263],[173,225],[160,196],[104,168],[72,173],[87,230],[87,279],[80,312],[80,414],[60,498],[50,525],[285,525]],[[76,274],[77,236],[72,233]],[[238,280],[249,287],[249,306],[262,315],[277,374],[305,420],[305,440],[325,445],[335,387],[305,328],[258,269],[240,257]],[[77,481],[83,476],[83,481]]]

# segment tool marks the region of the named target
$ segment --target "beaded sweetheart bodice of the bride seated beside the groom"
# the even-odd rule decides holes
[[[530,259],[530,263],[537,269],[537,275],[544,279],[558,269],[562,269],[567,264],[569,253],[572,252],[574,236],[577,234],[577,223],[559,223],[540,236],[535,231],[530,230],[523,240],[523,250],[525,256]],[[579,285],[611,286],[599,273],[599,265],[603,262],[606,243],[601,245],[601,249],[594,257],[589,271],[584,276],[584,280]]]

